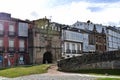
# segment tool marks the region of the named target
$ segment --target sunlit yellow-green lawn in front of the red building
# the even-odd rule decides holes
[[[0,70],[0,76],[3,77],[19,77],[31,74],[41,74],[47,72],[47,68],[50,64],[42,64],[37,66],[22,66],[22,67],[14,67],[14,68],[6,68]]]

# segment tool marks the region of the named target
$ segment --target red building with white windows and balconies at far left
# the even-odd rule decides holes
[[[0,66],[27,64],[28,22],[0,13]]]

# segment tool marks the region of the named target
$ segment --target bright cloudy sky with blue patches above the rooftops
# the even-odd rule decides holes
[[[120,0],[0,0],[0,12],[14,18],[72,25],[76,21],[120,27]]]

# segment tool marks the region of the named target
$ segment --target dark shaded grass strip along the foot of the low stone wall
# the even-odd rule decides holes
[[[74,73],[83,73],[83,74],[97,74],[97,75],[117,75],[120,76],[120,69],[86,69],[86,70],[77,70],[77,71],[67,71]]]

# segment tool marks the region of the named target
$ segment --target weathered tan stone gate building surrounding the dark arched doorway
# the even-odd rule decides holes
[[[58,30],[61,26],[51,25],[46,18],[35,20],[33,23],[34,27],[29,30],[31,35],[29,35],[28,44],[31,64],[42,64],[46,52],[52,54],[52,62],[56,63],[61,58],[61,29]]]

